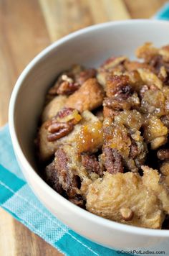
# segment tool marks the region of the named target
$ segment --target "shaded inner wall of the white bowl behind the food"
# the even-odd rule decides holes
[[[144,42],[169,43],[168,22],[110,22],[82,29],[49,46],[21,74],[13,95],[14,129],[26,159],[37,170],[34,137],[47,88],[74,63],[97,67],[112,55],[134,57]]]

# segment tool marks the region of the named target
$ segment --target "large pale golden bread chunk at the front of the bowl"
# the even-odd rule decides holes
[[[105,172],[88,187],[87,210],[113,221],[160,229],[168,214],[169,196],[165,186],[159,184],[157,170],[143,167],[143,171],[143,177],[130,172]],[[132,213],[131,219],[122,216],[124,209]]]

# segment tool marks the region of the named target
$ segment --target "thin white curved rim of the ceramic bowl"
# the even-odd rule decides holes
[[[30,165],[29,161],[26,159],[24,152],[21,150],[21,147],[19,145],[19,140],[16,136],[16,130],[15,130],[15,122],[14,122],[14,112],[15,112],[15,106],[16,106],[16,99],[17,95],[19,93],[19,89],[22,86],[22,83],[24,82],[25,78],[29,76],[29,73],[32,72],[32,68],[34,68],[37,63],[39,63],[40,60],[45,58],[49,52],[54,50],[54,48],[58,47],[59,45],[62,45],[62,43],[67,42],[71,40],[72,38],[79,37],[80,35],[83,35],[87,32],[94,31],[95,29],[100,29],[104,27],[115,27],[120,25],[128,25],[128,24],[140,24],[140,23],[151,23],[151,24],[168,24],[168,21],[161,21],[161,20],[155,20],[155,19],[129,19],[124,21],[113,21],[113,22],[105,22],[101,24],[95,24],[90,27],[85,27],[83,29],[79,29],[76,32],[72,32],[69,35],[66,35],[62,37],[61,39],[57,40],[56,42],[53,42],[48,47],[44,48],[39,54],[28,64],[26,65],[26,68],[22,71],[21,75],[19,76],[18,80],[16,81],[16,84],[14,86],[14,89],[11,93],[11,99],[9,103],[9,131],[11,134],[11,141],[14,147],[14,151],[16,155],[18,156],[19,160],[21,161],[22,165],[24,166],[25,172],[32,173],[32,177],[34,177],[34,180],[39,183],[39,186],[46,191],[49,196],[54,198],[54,200],[57,199],[57,201],[61,202],[62,204],[66,205],[67,208],[71,209],[71,211],[76,212],[79,216],[81,216],[84,219],[87,219],[87,221],[92,221],[95,224],[102,225],[102,227],[108,227],[109,229],[117,229],[122,232],[130,233],[130,234],[137,234],[137,235],[145,235],[145,236],[153,236],[153,237],[169,237],[169,230],[165,229],[147,229],[143,227],[135,227],[130,226],[127,224],[120,224],[116,221],[111,221],[109,219],[104,219],[101,216],[97,216],[95,214],[90,213],[89,211],[86,211],[84,209],[81,209],[79,206],[76,206],[69,202],[66,198],[59,195],[56,191],[54,191],[53,188],[51,188],[41,177],[37,174],[37,172],[32,168],[32,165]]]

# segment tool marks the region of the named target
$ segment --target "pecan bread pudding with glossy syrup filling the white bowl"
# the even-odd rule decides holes
[[[47,92],[37,135],[44,179],[106,219],[168,228],[169,46],[141,61],[74,65]],[[158,170],[156,170],[158,169]]]

